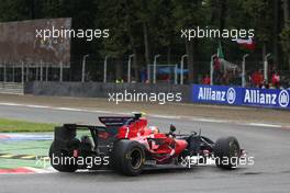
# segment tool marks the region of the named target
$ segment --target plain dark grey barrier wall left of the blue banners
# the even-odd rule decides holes
[[[181,102],[190,102],[191,86],[169,83],[103,83],[103,82],[26,82],[25,94],[77,98],[109,98],[109,93],[181,93]]]

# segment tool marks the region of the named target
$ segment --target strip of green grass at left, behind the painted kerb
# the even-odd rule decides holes
[[[55,124],[0,118],[0,132],[53,132]]]

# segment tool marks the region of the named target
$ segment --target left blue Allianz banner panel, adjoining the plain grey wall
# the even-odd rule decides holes
[[[242,88],[193,84],[191,93],[192,102],[242,104]]]

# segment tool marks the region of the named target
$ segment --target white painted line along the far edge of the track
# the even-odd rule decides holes
[[[102,113],[102,114],[118,114],[118,115],[131,115],[132,113],[125,112],[112,112],[112,111],[99,111],[99,110],[86,110],[86,109],[75,109],[75,107],[57,107],[57,106],[47,106],[47,105],[34,105],[34,104],[22,104],[22,103],[4,103],[0,102],[0,105],[5,106],[20,106],[20,107],[31,107],[31,109],[46,109],[46,110],[57,110],[57,111],[70,111],[70,112],[87,112],[87,113]],[[203,118],[203,117],[193,117],[193,116],[172,116],[172,115],[159,115],[159,114],[148,114],[150,117],[156,118],[167,118],[167,120],[189,120],[193,122],[205,122],[205,123],[226,123],[226,124],[236,124],[244,126],[257,126],[257,127],[274,127],[274,128],[285,128],[289,127],[286,125],[268,124],[268,123],[244,123],[236,122],[231,120],[214,120],[214,118]]]

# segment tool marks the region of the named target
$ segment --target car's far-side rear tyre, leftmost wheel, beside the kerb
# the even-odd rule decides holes
[[[62,150],[53,141],[49,148],[51,164],[54,169],[60,172],[75,172],[78,169],[77,160],[71,154]]]

